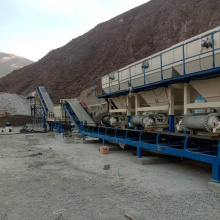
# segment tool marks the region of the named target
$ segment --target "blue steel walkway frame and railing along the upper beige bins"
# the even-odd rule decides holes
[[[112,92],[111,91],[111,83],[110,83],[110,78],[109,78],[109,82],[108,82],[108,88],[109,88],[109,93],[106,93],[104,94],[103,93],[103,88],[102,88],[102,77],[98,78],[98,79],[95,79],[94,80],[94,86],[95,86],[95,95],[96,97],[98,98],[108,98],[108,97],[113,97],[113,96],[119,96],[119,95],[122,95],[122,94],[127,94],[129,93],[129,90],[121,90],[120,89],[120,84],[124,81],[127,81],[129,80],[130,82],[130,85],[132,86],[132,78],[134,77],[137,77],[139,75],[144,75],[144,82],[143,82],[143,85],[141,86],[137,86],[137,87],[133,87],[132,88],[132,92],[138,92],[138,91],[141,91],[141,90],[150,90],[150,89],[155,89],[157,87],[161,87],[161,86],[167,86],[169,84],[174,84],[174,83],[178,83],[178,82],[184,82],[184,81],[187,81],[187,80],[190,80],[190,79],[196,79],[196,78],[200,78],[200,77],[207,77],[207,76],[211,76],[211,75],[219,75],[220,74],[220,67],[216,68],[216,65],[215,65],[215,51],[218,51],[220,50],[220,48],[215,48],[215,45],[214,45],[214,34],[218,33],[220,31],[215,31],[211,34],[207,34],[203,37],[198,37],[192,41],[189,41],[187,43],[184,43],[184,44],[181,44],[179,46],[176,46],[172,49],[168,49],[167,51],[164,51],[154,57],[151,57],[150,59],[146,59],[144,61],[141,61],[137,64],[134,64],[132,66],[129,66],[128,68],[125,68],[125,69],[121,69],[121,70],[118,70],[118,87],[119,87],[119,91],[115,91],[115,92]],[[193,43],[195,41],[198,41],[198,40],[201,40],[201,39],[204,39],[206,37],[210,36],[212,38],[212,50],[210,51],[206,51],[206,52],[203,52],[203,53],[199,53],[199,54],[196,54],[196,55],[193,55],[193,56],[190,56],[190,57],[185,57],[185,46],[190,44],[190,43]],[[162,56],[163,54],[166,54],[172,50],[175,50],[177,48],[182,48],[182,59],[179,59],[175,62],[171,62],[169,64],[166,64],[166,65],[163,65],[163,59],[162,59]],[[212,69],[209,69],[209,70],[205,70],[205,71],[199,71],[199,72],[196,72],[196,73],[191,73],[191,74],[186,74],[186,60],[188,59],[191,59],[191,58],[194,58],[194,57],[198,57],[198,56],[201,56],[201,55],[204,55],[204,54],[208,54],[208,53],[212,53]],[[148,71],[146,72],[146,69],[145,69],[145,63],[149,60],[152,60],[152,59],[155,59],[159,57],[160,58],[160,67],[159,68],[156,68],[156,69],[153,69],[151,71]],[[179,76],[179,77],[173,77],[173,78],[169,78],[169,79],[164,79],[164,75],[163,75],[163,68],[166,67],[166,66],[169,66],[169,65],[172,65],[172,64],[175,64],[175,63],[180,63],[180,64],[183,64],[183,75]],[[140,74],[137,74],[135,76],[131,76],[131,68],[132,67],[135,67],[137,65],[140,65],[140,64],[143,64],[143,72],[140,73]],[[147,73],[150,73],[152,71],[155,71],[155,70],[159,70],[160,69],[160,72],[161,72],[161,80],[158,81],[158,82],[154,82],[154,83],[148,83],[146,84],[146,74]],[[125,78],[123,80],[120,80],[120,72],[122,73],[124,70],[129,70],[129,78]],[[108,74],[109,76],[110,74]],[[96,85],[96,82],[97,80],[100,80],[101,81],[101,85]],[[97,89],[101,87],[101,94],[97,94]]]

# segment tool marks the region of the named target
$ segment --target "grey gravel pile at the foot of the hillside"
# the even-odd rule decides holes
[[[24,96],[0,93],[0,111],[5,110],[10,115],[31,115],[30,102]]]

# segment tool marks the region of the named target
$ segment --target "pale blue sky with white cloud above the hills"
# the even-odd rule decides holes
[[[147,1],[0,0],[0,52],[37,61],[97,24]]]

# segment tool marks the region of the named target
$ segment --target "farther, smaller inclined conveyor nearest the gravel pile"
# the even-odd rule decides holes
[[[40,97],[41,104],[44,108],[44,111],[46,111],[46,113],[47,112],[54,113],[54,104],[53,104],[46,88],[43,87],[43,86],[38,86],[37,87],[37,92],[38,92],[38,95]]]

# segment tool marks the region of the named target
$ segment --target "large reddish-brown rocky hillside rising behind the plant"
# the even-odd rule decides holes
[[[219,26],[219,11],[219,0],[151,0],[3,77],[0,91],[43,85],[55,101],[76,97],[97,77]]]

